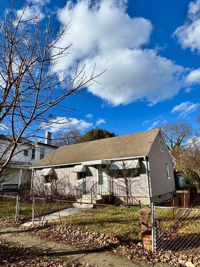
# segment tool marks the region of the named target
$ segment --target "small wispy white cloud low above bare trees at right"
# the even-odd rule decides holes
[[[180,105],[173,107],[171,113],[179,112],[180,116],[185,118],[189,113],[196,111],[200,103],[194,104],[194,102],[182,102]]]

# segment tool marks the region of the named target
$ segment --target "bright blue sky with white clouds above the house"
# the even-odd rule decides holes
[[[41,2],[31,0],[32,9]],[[96,73],[106,69],[90,85],[88,96],[66,99],[64,105],[77,110],[70,126],[83,132],[100,127],[119,135],[178,120],[199,127],[200,0],[42,3],[46,11],[53,9],[53,25],[71,24],[62,42],[73,45],[60,70],[73,68],[78,60],[80,66],[86,64],[88,76],[95,63]],[[68,119],[62,112],[59,117],[64,131]]]

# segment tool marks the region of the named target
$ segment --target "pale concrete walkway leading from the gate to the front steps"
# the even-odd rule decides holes
[[[78,213],[78,212],[84,211],[86,209],[88,209],[88,208],[65,208],[65,209],[62,209],[60,211],[46,214],[45,216],[41,216],[40,221],[45,223],[46,221],[55,220],[55,219],[59,219],[61,217],[69,216],[73,213]],[[38,218],[34,218],[34,223],[35,224],[39,223]],[[22,224],[22,226],[30,226],[30,225],[32,225],[32,220],[28,220]]]

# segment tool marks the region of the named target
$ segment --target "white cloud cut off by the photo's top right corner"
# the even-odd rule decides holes
[[[178,42],[183,49],[190,48],[191,51],[197,50],[200,53],[200,0],[189,3],[188,19],[178,27],[173,36],[178,38]]]

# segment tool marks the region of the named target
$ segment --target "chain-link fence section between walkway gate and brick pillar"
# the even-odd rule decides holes
[[[141,241],[138,205],[113,206],[34,198],[34,222],[70,226],[120,239]]]

